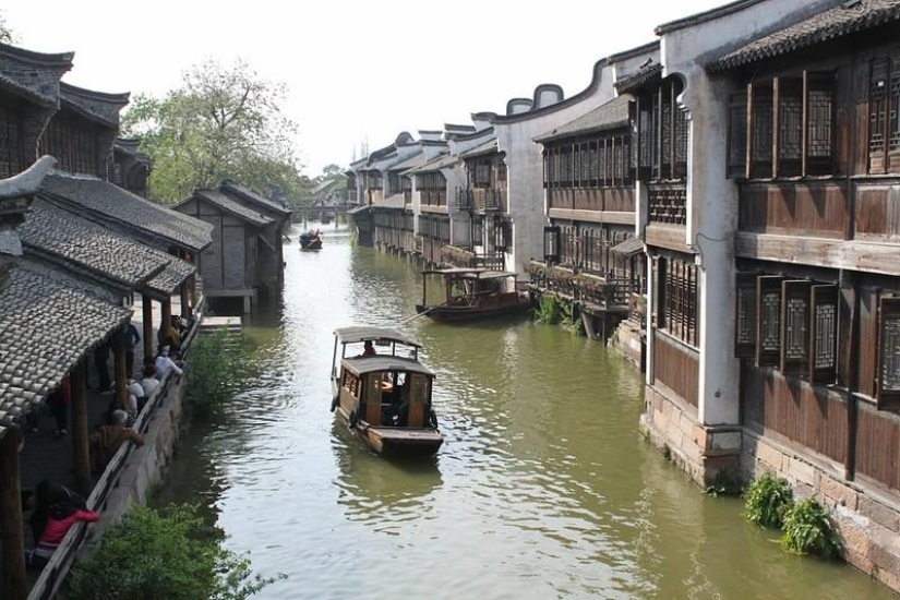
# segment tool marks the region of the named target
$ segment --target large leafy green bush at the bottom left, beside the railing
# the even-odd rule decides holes
[[[89,561],[73,566],[69,597],[240,600],[276,580],[253,574],[250,560],[224,549],[223,539],[195,507],[170,506],[164,514],[136,505]]]

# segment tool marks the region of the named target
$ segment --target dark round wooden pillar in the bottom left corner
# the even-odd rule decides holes
[[[0,440],[0,598],[25,600],[25,531],[22,527],[22,484],[19,472],[19,431],[11,427]]]

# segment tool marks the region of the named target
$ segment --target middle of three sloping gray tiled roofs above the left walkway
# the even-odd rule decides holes
[[[28,252],[74,263],[127,287],[163,271],[173,256],[35,199],[19,227]]]

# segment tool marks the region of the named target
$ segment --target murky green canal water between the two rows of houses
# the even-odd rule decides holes
[[[895,598],[783,552],[644,439],[640,375],[528,321],[410,319],[413,264],[326,228],[286,248],[279,307],[249,332],[262,375],[182,439],[165,497],[215,512],[259,598]],[[396,327],[437,373],[433,460],[370,454],[329,412],[335,327]]]

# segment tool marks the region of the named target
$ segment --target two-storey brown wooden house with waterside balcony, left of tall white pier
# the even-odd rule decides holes
[[[625,94],[535,139],[550,225],[529,273],[539,293],[577,304],[591,337],[608,337],[635,309],[639,362],[645,263],[634,235],[634,108]]]

